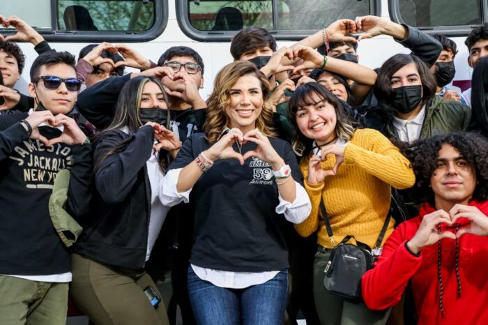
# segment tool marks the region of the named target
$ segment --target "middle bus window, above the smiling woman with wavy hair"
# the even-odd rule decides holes
[[[198,38],[208,35],[210,39],[219,31],[238,31],[251,26],[276,31],[279,36],[296,31],[310,34],[341,18],[379,14],[378,3],[376,0],[180,0],[178,15],[188,21],[192,30],[185,32],[190,37],[198,33]]]

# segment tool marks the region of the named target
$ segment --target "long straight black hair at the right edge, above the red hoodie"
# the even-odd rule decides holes
[[[488,58],[478,61],[471,81],[471,122],[469,129],[488,137]]]

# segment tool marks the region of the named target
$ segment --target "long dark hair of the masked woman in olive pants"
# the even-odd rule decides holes
[[[148,82],[154,82],[157,84],[160,87],[163,96],[165,96],[166,103],[169,103],[167,93],[165,92],[165,89],[162,87],[162,84],[158,78],[141,76],[135,77],[127,82],[121,90],[119,100],[117,100],[114,120],[105,130],[96,136],[96,141],[100,141],[100,139],[102,139],[108,132],[120,129],[125,129],[129,137],[119,142],[119,144],[116,144],[107,152],[107,154],[105,154],[105,156],[102,156],[102,158],[95,163],[94,170],[98,169],[102,162],[109,156],[123,151],[125,147],[128,146],[130,141],[132,141],[132,135],[135,135],[137,130],[143,126],[141,120],[139,119],[139,109],[141,107],[142,91]],[[165,128],[169,128],[170,123],[170,111],[167,109],[167,122]],[[168,151],[161,150],[158,158],[161,171],[166,172],[169,162],[171,161],[171,155]]]

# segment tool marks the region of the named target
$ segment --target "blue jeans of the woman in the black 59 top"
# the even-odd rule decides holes
[[[288,272],[244,289],[217,287],[188,268],[188,293],[199,325],[281,325],[287,304]]]

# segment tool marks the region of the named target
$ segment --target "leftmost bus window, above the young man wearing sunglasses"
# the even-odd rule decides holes
[[[5,3],[3,3],[5,2]],[[12,0],[1,15],[17,15],[48,41],[143,42],[158,37],[167,24],[167,0]],[[29,10],[26,10],[29,8]],[[9,33],[10,29],[3,29]]]

